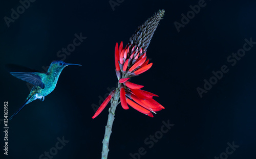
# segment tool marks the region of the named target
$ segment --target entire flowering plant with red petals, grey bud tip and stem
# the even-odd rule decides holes
[[[139,26],[124,49],[122,42],[119,47],[116,43],[115,66],[118,78],[118,87],[109,94],[92,117],[93,119],[96,118],[111,101],[108,123],[105,126],[105,134],[102,141],[102,159],[108,158],[112,125],[115,119],[116,107],[120,102],[123,109],[129,109],[127,105],[129,104],[135,110],[149,117],[153,117],[152,113],[164,109],[161,104],[153,99],[153,96],[158,95],[141,90],[144,86],[127,81],[130,77],[139,75],[151,68],[152,63],[148,64],[149,60],[146,60],[146,49],[150,44],[151,38],[153,37],[159,21],[163,16],[164,10],[159,10],[154,14],[154,16],[148,18],[141,26]]]

